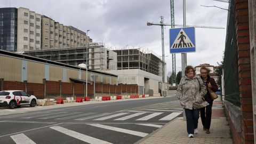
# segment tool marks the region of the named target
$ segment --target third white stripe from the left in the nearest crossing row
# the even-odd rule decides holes
[[[87,124],[87,125],[100,127],[102,129],[107,129],[107,130],[111,130],[111,131],[117,131],[117,132],[132,134],[132,135],[136,135],[136,136],[139,136],[139,137],[146,137],[146,135],[148,135],[148,133],[126,130],[126,129],[121,129],[121,128],[118,128],[118,127],[102,125],[102,124]]]

